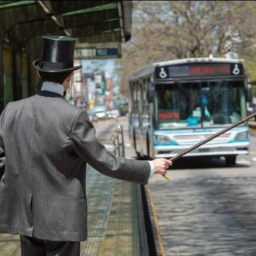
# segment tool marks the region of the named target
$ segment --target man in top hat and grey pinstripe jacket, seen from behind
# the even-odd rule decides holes
[[[95,138],[86,112],[64,97],[75,39],[44,38],[33,65],[38,95],[8,103],[0,117],[0,232],[20,234],[22,256],[77,256],[87,238],[86,163],[115,179],[147,184],[171,161],[116,158]]]

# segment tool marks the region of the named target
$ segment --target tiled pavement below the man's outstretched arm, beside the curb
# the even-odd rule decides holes
[[[138,186],[88,170],[88,240],[82,256],[140,255]]]

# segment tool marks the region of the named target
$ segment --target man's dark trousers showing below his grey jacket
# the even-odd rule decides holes
[[[21,256],[79,256],[80,242],[48,241],[20,236]]]

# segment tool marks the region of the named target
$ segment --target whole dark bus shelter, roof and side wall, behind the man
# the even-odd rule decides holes
[[[31,63],[41,56],[41,35],[124,43],[131,37],[131,14],[132,1],[0,1],[0,111],[37,92]]]

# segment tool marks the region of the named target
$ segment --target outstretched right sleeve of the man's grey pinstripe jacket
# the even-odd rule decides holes
[[[70,137],[76,154],[102,174],[133,183],[148,183],[150,163],[116,157],[114,153],[106,150],[96,139],[95,128],[86,112],[80,112],[74,119]]]

